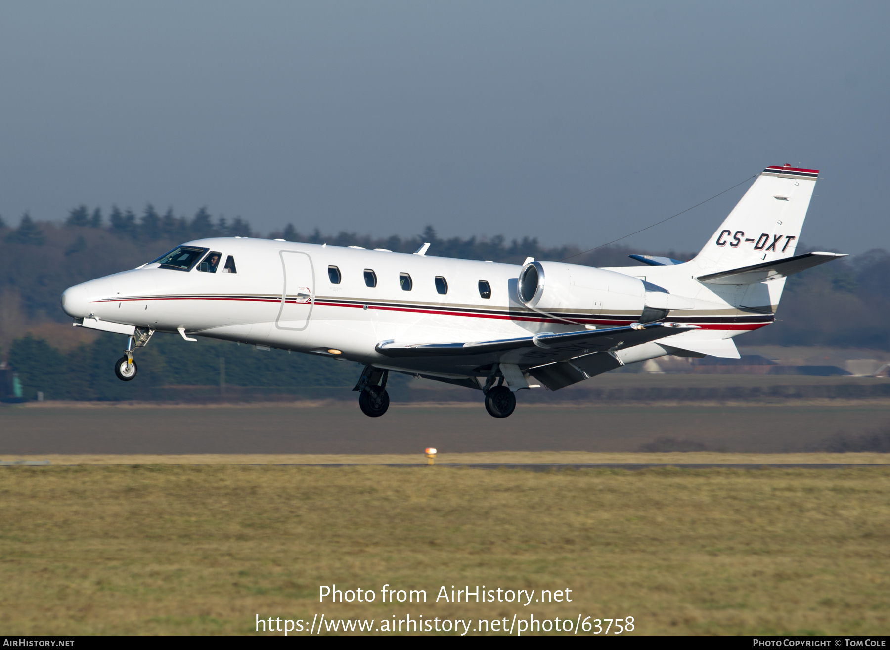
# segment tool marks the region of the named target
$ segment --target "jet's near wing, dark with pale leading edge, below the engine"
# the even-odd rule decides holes
[[[523,368],[571,359],[582,354],[641,345],[670,337],[694,325],[673,322],[652,322],[633,327],[585,329],[578,332],[552,334],[543,332],[530,337],[502,338],[473,343],[411,343],[382,341],[376,351],[393,359],[475,357],[478,363],[516,363]]]

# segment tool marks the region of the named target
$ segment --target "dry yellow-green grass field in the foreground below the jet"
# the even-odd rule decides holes
[[[534,613],[633,616],[634,634],[876,635],[890,630],[888,541],[881,467],[4,467],[0,627],[242,634],[257,614]],[[428,602],[319,604],[331,583]],[[433,602],[467,584],[573,599]]]

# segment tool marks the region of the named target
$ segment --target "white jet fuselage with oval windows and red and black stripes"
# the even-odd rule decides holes
[[[598,291],[597,298],[547,311],[519,301],[516,283],[522,267],[514,264],[247,238],[196,240],[183,246],[218,252],[223,260],[231,256],[237,272],[223,272],[222,264],[216,272],[201,272],[197,265],[179,271],[145,264],[69,288],[63,308],[76,319],[93,317],[393,370],[467,377],[484,373],[454,361],[395,360],[377,353],[375,346],[387,340],[449,343],[627,325],[643,309],[648,290],[644,280],[692,301],[692,308],[672,311],[670,319],[701,329],[679,336],[706,332],[711,338],[726,338],[763,327],[773,320],[766,311],[772,312],[770,305],[778,302],[765,285],[756,289],[763,295],[752,295],[747,302],[745,292],[755,289],[708,288],[684,268],[692,263],[592,270],[600,273],[595,278],[603,286],[586,290]],[[329,273],[329,267],[337,272]],[[373,272],[376,286],[368,286],[366,271]],[[409,290],[401,274],[409,276]],[[339,283],[332,281],[337,275]],[[437,288],[437,277],[447,283],[447,293],[440,292],[441,281]],[[488,284],[490,297],[482,297],[480,282]],[[781,291],[778,283],[777,288]],[[765,313],[758,318],[739,305]],[[664,353],[652,347],[643,356],[637,354],[639,358],[630,354],[627,361]]]

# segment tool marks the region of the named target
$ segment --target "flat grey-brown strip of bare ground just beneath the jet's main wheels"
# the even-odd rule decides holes
[[[422,453],[426,447],[446,453],[780,453],[819,451],[831,435],[862,435],[888,422],[887,402],[840,406],[522,404],[504,419],[491,418],[481,404],[393,405],[382,418],[367,418],[358,405],[343,403],[6,407],[0,409],[0,459],[49,454],[409,454]],[[646,448],[652,444],[661,448]]]

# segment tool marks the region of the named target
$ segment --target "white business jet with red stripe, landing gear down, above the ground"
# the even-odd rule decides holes
[[[516,391],[558,390],[666,354],[738,358],[732,338],[773,322],[785,278],[841,257],[795,255],[815,169],[766,167],[694,259],[647,266],[522,266],[246,237],[189,241],[132,271],[67,289],[74,325],[129,337],[115,372],[156,331],[365,368],[370,417],[390,371],[481,391],[496,418]]]

